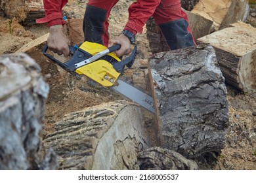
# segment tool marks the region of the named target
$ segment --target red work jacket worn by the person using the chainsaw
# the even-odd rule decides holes
[[[146,21],[160,4],[161,0],[137,0],[129,7],[129,20],[125,26],[125,29],[129,29],[133,33],[142,33],[142,27],[146,24]],[[113,3],[114,1],[106,0],[106,3],[97,3],[97,1],[90,1],[93,5],[99,8],[110,11],[106,7],[106,4]],[[37,20],[37,24],[43,24],[48,22],[48,26],[64,24],[62,18],[62,8],[68,3],[68,0],[43,0],[45,8],[45,18]]]

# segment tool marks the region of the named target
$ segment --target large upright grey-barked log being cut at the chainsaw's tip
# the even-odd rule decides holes
[[[154,54],[150,81],[163,148],[196,158],[224,148],[228,101],[215,51],[207,44]]]

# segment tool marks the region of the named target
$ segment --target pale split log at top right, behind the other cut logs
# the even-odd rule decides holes
[[[234,22],[245,21],[249,8],[247,0],[200,0],[191,12],[213,21],[213,32]]]

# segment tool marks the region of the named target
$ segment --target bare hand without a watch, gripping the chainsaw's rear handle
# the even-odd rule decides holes
[[[65,57],[70,55],[70,50],[68,45],[70,45],[70,40],[64,34],[62,25],[53,25],[49,27],[49,37],[47,39],[47,44],[49,50]]]

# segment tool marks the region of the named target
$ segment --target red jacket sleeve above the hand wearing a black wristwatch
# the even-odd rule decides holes
[[[137,0],[129,7],[129,20],[125,25],[125,29],[133,33],[142,33],[143,26],[152,14],[154,14],[156,7],[161,0]]]

